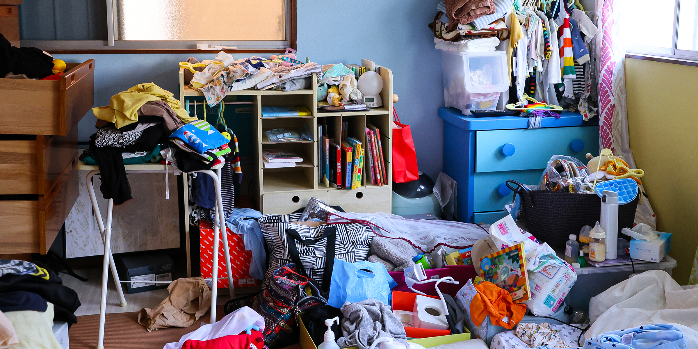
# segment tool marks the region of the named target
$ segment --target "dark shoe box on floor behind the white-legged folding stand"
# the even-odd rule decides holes
[[[169,255],[128,255],[119,256],[117,272],[121,281],[138,281],[123,283],[124,290],[129,295],[134,293],[168,288],[169,283],[152,283],[148,281],[172,281],[174,263]]]

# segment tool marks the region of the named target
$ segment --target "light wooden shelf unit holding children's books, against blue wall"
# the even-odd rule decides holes
[[[362,61],[362,65],[364,61]],[[378,68],[378,65],[376,65]],[[255,137],[255,149],[253,149],[254,173],[243,175],[253,176],[253,198],[257,207],[263,214],[290,214],[292,211],[304,207],[310,198],[318,198],[329,203],[339,205],[345,211],[390,213],[392,207],[392,70],[380,67],[380,76],[383,77],[383,106],[371,110],[362,111],[318,111],[317,87],[318,77],[313,74],[312,88],[297,91],[260,91],[245,89],[242,91],[230,91],[228,96],[251,96],[252,98],[252,133]],[[198,91],[184,85],[184,69],[179,70],[179,95],[182,105],[190,96],[203,96]],[[262,106],[294,105],[304,106],[311,110],[312,115],[306,117],[262,117]],[[318,120],[320,118],[334,118],[334,129],[328,134],[335,140],[340,140],[341,124],[349,122],[349,135],[366,144],[366,124],[370,123],[380,129],[380,138],[383,145],[385,158],[385,171],[387,172],[387,185],[375,186],[366,183],[366,175],[362,177],[362,185],[355,190],[338,190],[331,186],[325,187],[320,183],[318,165]],[[320,121],[322,122],[322,121]],[[269,142],[265,131],[274,128],[290,128],[299,133],[303,125],[308,126],[313,135],[313,140],[300,140],[295,142]],[[235,125],[229,125],[233,131]],[[244,132],[244,131],[242,131]],[[263,149],[289,149],[296,151],[304,158],[293,168],[264,168],[262,165]],[[369,169],[368,158],[364,156],[364,170]]]

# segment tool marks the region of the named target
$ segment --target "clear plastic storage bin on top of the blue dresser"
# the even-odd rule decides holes
[[[509,88],[507,52],[441,52],[443,99],[447,107],[463,114],[470,110],[495,110]]]

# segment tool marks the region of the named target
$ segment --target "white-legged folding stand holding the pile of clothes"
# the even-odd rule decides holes
[[[230,288],[230,297],[234,297],[235,292],[232,290],[234,287],[232,280],[232,268],[230,266],[230,251],[228,250],[228,234],[225,230],[225,216],[223,214],[223,198],[221,196],[221,168],[225,165],[225,162],[217,169],[213,168],[211,170],[200,170],[192,172],[200,172],[202,174],[207,174],[214,180],[214,187],[216,192],[216,215],[214,222],[214,246],[213,246],[213,265],[211,269],[213,274],[211,275],[211,322],[216,321],[216,301],[218,296],[218,239],[223,238],[223,252],[225,254],[225,269],[228,272],[228,287]],[[171,165],[164,165],[158,163],[143,163],[138,165],[124,165],[124,169],[127,173],[164,173],[165,181],[168,182],[167,178],[170,173],[175,175],[182,174],[179,170],[172,168]],[[112,210],[114,209],[114,200],[107,199],[107,220],[102,221],[102,214],[97,205],[97,197],[94,193],[94,186],[92,184],[92,177],[99,173],[99,167],[96,165],[85,165],[84,163],[79,163],[77,165],[77,170],[89,170],[85,179],[87,184],[87,193],[89,194],[90,201],[92,203],[92,209],[94,211],[94,216],[97,220],[97,227],[99,229],[100,235],[102,236],[102,242],[104,244],[104,258],[102,263],[102,295],[99,307],[99,335],[97,341],[97,349],[104,349],[104,325],[107,311],[107,281],[109,279],[109,269],[112,270],[112,276],[114,278],[114,283],[117,285],[117,293],[119,294],[119,299],[121,301],[121,306],[126,306],[126,298],[124,298],[124,290],[121,289],[121,283],[135,283],[142,281],[121,281],[119,280],[119,274],[117,274],[117,267],[114,265],[114,257],[112,256],[111,248],[111,238],[112,238]],[[215,172],[214,172],[215,170]],[[186,200],[186,199],[185,199]],[[223,234],[221,234],[223,230]],[[219,235],[220,234],[220,235]],[[223,278],[224,279],[224,278]],[[148,281],[149,283],[171,283],[172,281]]]

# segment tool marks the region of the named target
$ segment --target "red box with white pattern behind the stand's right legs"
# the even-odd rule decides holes
[[[210,278],[213,274],[213,250],[214,250],[214,225],[205,220],[199,221],[201,276]],[[245,242],[242,235],[235,234],[227,227],[228,251],[230,252],[230,269],[232,269],[232,281],[234,286],[256,286],[257,279],[250,276],[250,263],[252,251],[245,250]],[[228,288],[228,270],[225,268],[225,253],[223,252],[223,239],[218,237],[218,288]]]

